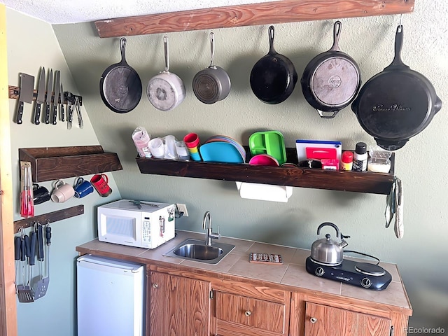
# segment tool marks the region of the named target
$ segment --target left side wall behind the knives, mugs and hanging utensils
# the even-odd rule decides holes
[[[19,85],[19,73],[28,73],[35,76],[37,87],[37,74],[40,66],[45,69],[52,68],[61,71],[61,78],[65,91],[78,94],[76,84],[62,55],[55,33],[48,23],[35,20],[22,15],[14,10],[6,10],[6,31],[8,41],[8,83]],[[54,78],[54,77],[53,77]],[[15,221],[20,217],[20,163],[18,148],[52,147],[52,146],[88,146],[97,145],[98,139],[92,129],[89,117],[83,108],[84,128],[78,128],[77,118],[71,130],[67,130],[66,123],[57,125],[34,125],[31,116],[34,104],[25,104],[23,123],[13,123],[17,109],[17,100],[10,99],[10,130],[11,152],[13,155],[13,190],[15,190]],[[3,111],[2,111],[3,113]],[[111,150],[107,144],[104,149]],[[32,303],[18,302],[18,331],[19,335],[76,335],[76,246],[97,237],[95,221],[96,207],[99,204],[120,199],[120,193],[113,176],[106,173],[111,183],[113,193],[106,199],[94,192],[87,197],[78,200],[71,198],[62,204],[51,201],[38,204],[34,207],[36,215],[47,214],[52,211],[62,210],[84,204],[85,213],[81,216],[50,223],[52,227],[52,240],[50,246],[50,283],[44,297]],[[83,176],[90,179],[91,175]],[[66,183],[73,184],[74,178],[65,179]],[[52,183],[48,181],[39,183],[49,190]],[[29,233],[27,229],[27,234]],[[13,239],[11,237],[10,239]],[[45,265],[43,265],[45,266]],[[45,272],[45,267],[43,267]],[[39,274],[39,265],[36,262],[33,271],[34,276]],[[22,279],[19,279],[22,283]]]

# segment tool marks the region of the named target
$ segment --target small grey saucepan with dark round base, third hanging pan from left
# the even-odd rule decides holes
[[[230,92],[230,78],[227,72],[214,65],[215,40],[210,33],[211,62],[210,66],[196,73],[193,78],[193,92],[204,104],[214,104],[223,100]]]

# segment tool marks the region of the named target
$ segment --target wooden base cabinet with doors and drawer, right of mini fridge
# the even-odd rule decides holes
[[[412,307],[399,276],[387,290],[353,287],[344,295],[163,262],[156,250],[149,253],[157,258],[148,258],[116,248],[123,255],[102,241],[76,250],[146,264],[147,336],[407,335]]]

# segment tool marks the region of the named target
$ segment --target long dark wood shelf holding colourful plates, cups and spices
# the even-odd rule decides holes
[[[295,148],[286,148],[286,156],[287,162],[297,164]],[[388,174],[153,158],[136,158],[136,160],[142,174],[388,195],[393,183],[395,155],[392,154],[391,171]]]

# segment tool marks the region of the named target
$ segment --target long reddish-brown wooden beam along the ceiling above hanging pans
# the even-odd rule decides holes
[[[281,0],[95,22],[99,37],[411,13],[414,0]]]

